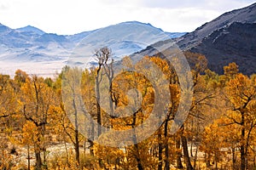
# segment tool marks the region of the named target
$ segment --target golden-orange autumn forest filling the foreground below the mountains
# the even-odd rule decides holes
[[[175,133],[170,131],[182,90],[172,64],[157,55],[145,56],[137,65],[129,57],[123,59],[127,68],[157,65],[170,95],[160,101],[166,113],[158,110],[151,122],[163,120],[159,128],[143,140],[134,133],[133,144],[119,147],[113,143],[120,136],[109,137],[116,140],[105,145],[97,139],[106,129],[125,131],[146,122],[157,107],[161,88],[154,84],[159,79],[153,82],[135,71],[113,77],[108,48],[96,51],[96,66],[65,66],[54,78],[21,70],[15,77],[1,74],[0,169],[255,169],[256,74],[243,75],[236,63],[230,63],[218,75],[207,68],[204,55],[184,55],[190,63],[193,94],[188,116]],[[102,92],[101,82],[108,92]],[[108,102],[101,104],[101,93],[108,94],[103,99]],[[83,123],[79,113],[84,110],[78,103],[90,114],[91,124]]]

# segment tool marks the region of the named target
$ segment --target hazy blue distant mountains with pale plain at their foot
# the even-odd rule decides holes
[[[136,53],[148,45],[179,37],[137,21],[84,31],[74,35],[46,33],[34,26],[11,29],[0,24],[0,72],[21,69],[32,74],[51,74],[66,64],[83,64],[96,48],[112,48],[114,59]]]

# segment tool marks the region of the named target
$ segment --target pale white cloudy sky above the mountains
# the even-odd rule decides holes
[[[194,31],[253,0],[0,0],[0,23],[61,35],[137,20],[164,31]]]

